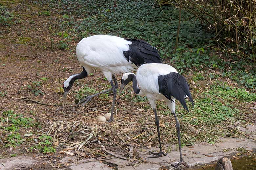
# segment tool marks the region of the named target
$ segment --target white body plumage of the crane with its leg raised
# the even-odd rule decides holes
[[[76,56],[87,74],[93,68],[101,70],[110,81],[113,74],[130,72],[136,68],[125,58],[123,51],[128,51],[132,42],[110,35],[94,35],[83,38],[76,47]]]

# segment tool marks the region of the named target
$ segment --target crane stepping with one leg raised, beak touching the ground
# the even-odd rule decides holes
[[[113,103],[109,122],[113,120],[113,110],[117,93],[116,88],[118,88],[114,74],[131,72],[134,68],[144,63],[161,63],[158,50],[147,42],[110,35],[94,35],[83,38],[76,46],[76,56],[83,67],[83,71],[70,76],[63,83],[63,105],[65,104],[67,93],[71,89],[74,81],[85,78],[93,68],[97,68],[103,72],[112,88],[87,96],[78,104],[83,102],[83,104],[85,104],[90,101],[92,97],[113,90]]]

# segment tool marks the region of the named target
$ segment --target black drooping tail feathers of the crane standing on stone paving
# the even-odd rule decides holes
[[[185,101],[185,96],[187,95],[194,108],[194,101],[189,91],[188,82],[181,74],[172,72],[167,75],[158,76],[158,86],[161,94],[171,101],[171,96],[173,96],[179,100],[182,106],[188,111]]]

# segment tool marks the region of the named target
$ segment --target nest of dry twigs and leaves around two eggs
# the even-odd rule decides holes
[[[82,111],[86,108],[75,109],[76,111],[70,107],[57,110],[56,116],[52,116],[59,117],[58,120],[48,122],[47,128],[43,131],[52,137],[53,145],[59,153],[83,155],[87,158],[124,154],[127,158],[136,157],[135,150],[145,146],[158,146],[157,130],[151,109],[132,109],[127,108],[128,106],[130,105],[126,105],[126,111],[119,110],[119,114],[116,110],[115,121],[111,123],[97,121],[97,116],[106,113],[110,107],[86,113]],[[168,121],[174,123],[171,118]],[[160,127],[164,127],[161,118]],[[176,136],[174,124],[172,134]],[[161,138],[166,141],[170,136],[163,133]]]

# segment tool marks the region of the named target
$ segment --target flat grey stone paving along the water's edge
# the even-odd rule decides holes
[[[248,125],[247,127],[240,127],[241,132],[249,133],[250,136],[256,137],[256,125]],[[243,146],[243,147],[241,147]],[[206,142],[196,143],[194,146],[185,146],[182,148],[183,158],[190,166],[185,168],[180,166],[181,169],[195,170],[199,168],[211,168],[215,166],[218,159],[223,156],[227,156],[231,159],[231,162],[239,160],[240,156],[250,156],[250,159],[255,158],[256,151],[255,141],[248,138],[228,138],[222,137],[218,139],[218,143],[209,144]],[[142,147],[136,150],[140,157],[140,161],[131,161],[129,158],[98,160],[94,158],[82,159],[78,161],[77,156],[71,155],[58,155],[58,156],[38,156],[35,154],[24,154],[12,158],[0,159],[0,169],[65,169],[65,170],[166,170],[172,169],[170,164],[178,161],[179,151],[175,145],[164,145],[163,148],[172,148],[173,150],[168,153],[167,156],[161,158],[148,158],[150,156],[148,151],[158,150],[158,148],[146,148]],[[252,156],[252,157],[251,157]],[[113,158],[113,157],[112,157]],[[253,161],[252,161],[253,162]],[[234,166],[234,165],[233,165]],[[254,164],[248,164],[247,168],[253,169]],[[234,167],[236,168],[236,167]]]

